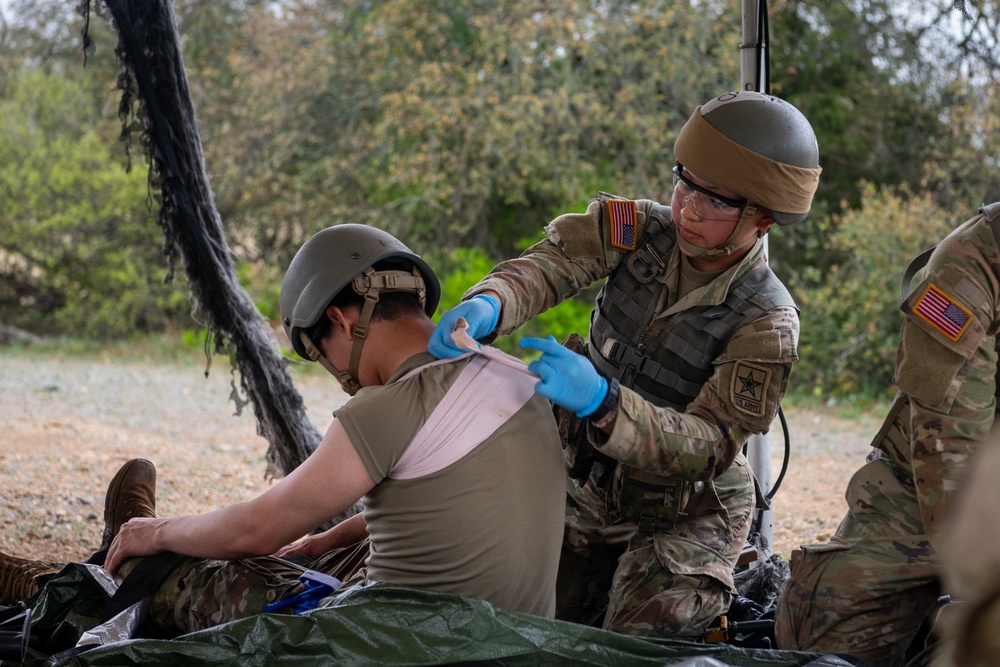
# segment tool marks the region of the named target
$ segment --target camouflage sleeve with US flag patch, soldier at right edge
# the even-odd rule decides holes
[[[970,220],[938,246],[901,306],[896,384],[910,397],[913,481],[932,541],[994,420],[998,254],[989,225]]]

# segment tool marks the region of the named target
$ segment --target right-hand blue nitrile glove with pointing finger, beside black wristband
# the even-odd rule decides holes
[[[522,338],[521,347],[538,350],[542,356],[528,370],[542,378],[535,391],[556,405],[586,417],[608,395],[608,381],[590,359],[560,345],[555,338]]]

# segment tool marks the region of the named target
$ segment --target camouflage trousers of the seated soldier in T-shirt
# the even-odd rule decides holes
[[[324,554],[309,564],[265,556],[240,560],[185,558],[171,570],[150,600],[147,625],[163,636],[204,630],[264,611],[264,606],[305,590],[307,569],[329,574],[344,585],[364,583],[368,540]],[[130,559],[120,574],[141,561]],[[291,613],[290,608],[278,613]]]

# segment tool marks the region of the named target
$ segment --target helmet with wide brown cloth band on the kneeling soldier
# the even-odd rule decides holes
[[[699,177],[767,207],[781,225],[806,217],[819,185],[812,125],[773,95],[733,92],[698,107],[674,156]]]

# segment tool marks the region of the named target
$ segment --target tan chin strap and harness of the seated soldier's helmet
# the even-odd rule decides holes
[[[354,344],[351,346],[351,361],[348,370],[342,371],[334,366],[333,362],[326,358],[304,331],[300,330],[299,336],[309,358],[322,364],[323,368],[340,381],[344,391],[349,396],[354,396],[361,389],[361,382],[358,379],[358,371],[361,367],[361,349],[368,338],[368,325],[371,323],[372,313],[378,304],[379,293],[382,290],[414,292],[420,299],[420,304],[424,305],[427,290],[424,278],[416,267],[413,267],[412,273],[376,271],[369,267],[362,275],[354,279],[351,287],[355,292],[365,297],[365,303],[361,307],[361,314],[358,315],[358,323],[354,325]]]

